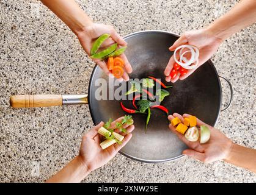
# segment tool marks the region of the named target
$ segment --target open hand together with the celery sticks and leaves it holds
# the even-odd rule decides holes
[[[126,133],[120,131],[120,129],[115,129],[117,122],[122,124],[122,128],[125,129]],[[114,133],[115,139],[118,141],[122,140],[120,144],[112,144],[106,149],[102,149],[100,143],[104,140],[108,140],[105,136],[100,135],[98,130],[104,126],[104,129],[110,130],[111,133],[118,133],[119,137],[116,137]],[[133,119],[130,116],[123,116],[115,121],[109,120],[104,124],[104,122],[100,122],[97,126],[93,127],[88,133],[84,135],[82,138],[82,144],[80,147],[79,158],[83,161],[83,164],[87,166],[89,171],[93,171],[111,160],[117,152],[122,149],[125,144],[131,139],[131,132],[134,130]],[[122,138],[123,139],[120,139]]]

